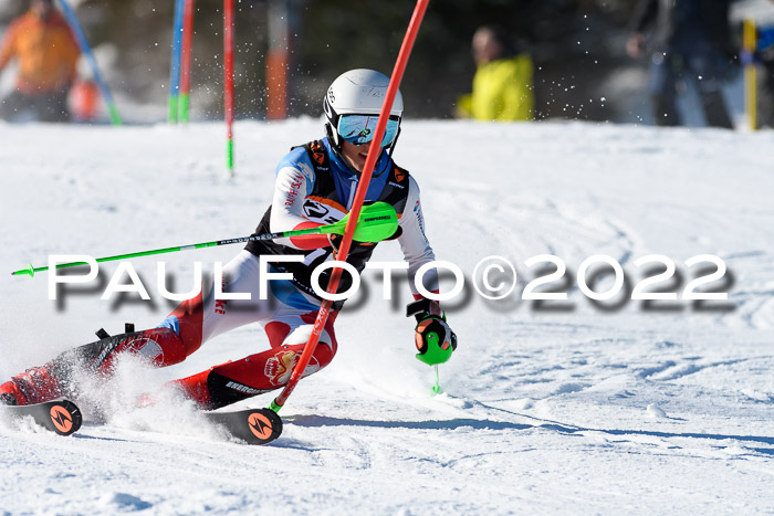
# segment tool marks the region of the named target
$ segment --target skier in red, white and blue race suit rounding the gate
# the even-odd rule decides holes
[[[276,167],[272,206],[255,234],[314,228],[341,220],[352,208],[378,114],[389,78],[372,70],[353,70],[336,78],[323,101],[326,136],[293,147]],[[391,204],[398,229],[388,240],[397,240],[408,262],[415,296],[411,312],[419,312],[417,347],[427,349],[428,320],[443,348],[456,348],[457,337],[446,324],[437,302],[422,299],[414,284],[419,267],[435,260],[425,235],[419,187],[414,177],[393,161],[400,133],[402,97],[397,93],[379,158],[368,186],[366,201]],[[217,409],[251,396],[283,387],[311,335],[321,298],[311,287],[312,271],[336,255],[341,235],[305,235],[276,241],[250,242],[223,267],[222,292],[250,293],[250,301],[218,301],[213,286],[207,285],[196,297],[182,302],[158,327],[143,331],[127,328],[126,334],[108,336],[100,330],[100,340],[65,351],[42,367],[32,368],[0,386],[0,401],[7,404],[38,403],[59,397],[77,397],[79,378],[109,375],[122,354],[146,357],[154,366],[165,367],[186,359],[213,337],[249,323],[260,323],[269,337],[270,349],[212,367],[198,375],[171,382],[197,404]],[[362,272],[376,244],[353,242],[347,262]],[[270,273],[292,273],[292,280],[269,282],[266,299],[260,299],[260,255],[300,255],[303,262],[270,261]],[[331,270],[320,283],[327,284]],[[348,275],[342,276],[337,292],[348,288]],[[435,270],[423,275],[423,286],[438,292]],[[320,337],[320,344],[304,376],[325,367],[333,359],[337,341],[334,333],[336,302]],[[128,326],[128,325],[127,325]]]

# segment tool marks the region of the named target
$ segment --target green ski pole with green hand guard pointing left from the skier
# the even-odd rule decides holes
[[[139,251],[136,253],[117,254],[115,256],[106,256],[96,259],[97,263],[102,262],[113,262],[116,260],[128,260],[140,256],[150,256],[153,254],[165,254],[175,253],[178,251],[189,251],[192,249],[203,249],[203,248],[216,248],[218,245],[229,245],[243,242],[255,242],[260,240],[275,240],[285,239],[290,236],[302,236],[305,234],[344,234],[349,215],[345,215],[342,220],[336,223],[328,225],[321,225],[318,228],[308,228],[305,230],[294,230],[285,231],[282,233],[265,233],[255,234],[251,236],[240,236],[238,239],[228,240],[216,240],[213,242],[202,242],[198,244],[190,245],[179,245],[174,248],[163,248],[154,249],[150,251]],[[395,234],[398,229],[398,215],[395,213],[395,209],[386,202],[375,202],[373,204],[366,206],[360,211],[360,215],[357,219],[357,227],[355,229],[354,240],[359,242],[381,242]],[[55,268],[75,267],[79,265],[87,265],[86,262],[71,262],[71,263],[60,263]],[[13,271],[11,275],[20,276],[28,274],[30,277],[34,276],[36,272],[48,271],[49,267],[33,267],[32,264],[28,265],[25,268],[20,268],[19,271]]]

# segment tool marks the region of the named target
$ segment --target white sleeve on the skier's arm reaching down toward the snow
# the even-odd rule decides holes
[[[409,286],[411,293],[418,294],[414,282],[417,270],[426,263],[435,261],[436,255],[425,235],[425,219],[422,218],[422,206],[419,202],[419,185],[411,176],[409,176],[406,208],[398,224],[402,229],[398,242],[404,257],[408,262]],[[428,271],[422,277],[422,284],[430,292],[438,291],[438,272],[435,268]]]

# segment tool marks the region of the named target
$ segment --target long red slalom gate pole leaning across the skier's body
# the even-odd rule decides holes
[[[419,27],[422,24],[422,18],[425,17],[425,11],[427,11],[427,6],[430,0],[417,0],[417,6],[414,8],[414,14],[411,15],[411,21],[408,24],[406,36],[400,45],[400,52],[398,52],[398,59],[395,61],[395,67],[393,69],[393,75],[389,80],[389,86],[387,86],[387,96],[381,105],[379,122],[376,124],[374,138],[370,140],[370,147],[368,147],[366,164],[363,168],[360,181],[357,185],[357,190],[355,191],[355,200],[352,203],[352,210],[349,211],[349,220],[344,230],[342,244],[338,248],[338,254],[336,256],[336,260],[338,261],[346,262],[347,260],[349,246],[352,245],[352,238],[355,233],[355,227],[357,225],[357,219],[360,217],[360,208],[363,208],[363,201],[366,199],[368,183],[370,182],[370,177],[374,173],[374,167],[376,166],[376,159],[379,155],[381,138],[384,138],[385,130],[387,129],[389,112],[393,109],[393,102],[395,102],[395,96],[398,93],[400,81],[404,78],[406,65],[408,64],[408,59],[411,55],[414,42],[417,40],[417,33],[419,32]],[[327,287],[328,294],[336,292],[341,277],[342,268],[335,267],[331,274],[331,282],[328,283]],[[301,376],[312,359],[312,354],[314,354],[314,350],[317,348],[320,336],[322,335],[325,323],[331,314],[332,306],[333,302],[328,299],[325,299],[321,305],[320,312],[317,312],[317,318],[314,322],[312,335],[304,346],[304,350],[301,354],[299,362],[293,368],[293,373],[291,375],[290,380],[285,385],[285,388],[282,389],[282,392],[280,392],[280,396],[278,396],[271,403],[270,409],[274,412],[278,412],[285,404],[285,401],[287,401],[287,398],[293,392],[293,389],[295,389],[295,386],[299,383]]]

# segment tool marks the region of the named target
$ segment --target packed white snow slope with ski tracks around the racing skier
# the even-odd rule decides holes
[[[174,306],[158,295],[158,260],[182,292],[194,262],[211,271],[239,246],[133,261],[150,303],[101,301],[115,263],[101,267],[102,283],[70,286],[59,301],[48,299],[45,273],[11,271],[50,254],[250,234],[279,159],[321,135],[316,119],[239,123],[228,179],[216,124],[0,125],[2,380],[93,341],[100,327],[158,324]],[[88,420],[74,436],[0,422],[0,513],[771,514],[773,148],[771,131],[407,120],[396,159],[421,186],[436,255],[466,276],[446,303],[460,345],[440,368],[444,393],[432,396],[432,370],[414,358],[405,278],[396,274],[385,301],[380,275],[366,272],[337,320],[337,357],[301,381],[278,441],[230,441],[174,398],[133,408],[169,379],[268,347],[260,327],[243,327],[172,368],[122,362],[81,400]],[[567,292],[567,301],[522,299],[526,283],[555,268],[525,264],[542,254],[567,273],[536,292]],[[593,303],[575,276],[599,254],[620,263],[627,282]],[[635,265],[650,254],[673,261],[677,274],[646,292],[677,301],[630,299],[634,285],[665,270]],[[728,271],[697,291],[728,301],[680,298],[715,270],[686,265],[702,254]],[[501,301],[471,286],[490,255],[519,274]],[[376,259],[399,260],[397,244]],[[596,292],[614,286],[611,274],[594,275],[585,277]],[[508,280],[490,275],[493,286]]]

